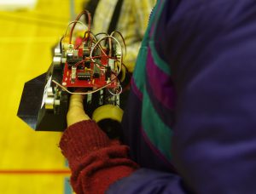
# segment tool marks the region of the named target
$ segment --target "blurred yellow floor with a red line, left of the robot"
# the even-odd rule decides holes
[[[0,0],[0,193],[72,193],[61,133],[35,132],[16,113],[24,83],[47,71],[51,48],[83,3]]]

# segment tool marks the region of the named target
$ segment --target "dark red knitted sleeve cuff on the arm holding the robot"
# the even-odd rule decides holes
[[[138,168],[128,158],[128,147],[109,140],[91,120],[67,128],[60,147],[72,171],[71,185],[78,194],[104,193],[113,182]]]

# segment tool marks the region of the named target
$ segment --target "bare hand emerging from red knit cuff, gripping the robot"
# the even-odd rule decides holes
[[[90,117],[84,112],[83,105],[84,96],[80,94],[72,94],[69,101],[69,109],[67,111],[67,127],[80,121],[90,120]]]

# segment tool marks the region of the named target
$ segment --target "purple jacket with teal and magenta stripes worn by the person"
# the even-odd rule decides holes
[[[256,193],[256,2],[158,1],[123,133],[142,168],[108,193]]]

